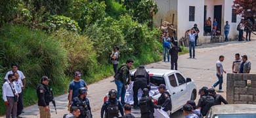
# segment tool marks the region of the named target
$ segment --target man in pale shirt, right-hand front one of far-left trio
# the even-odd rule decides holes
[[[22,109],[23,109],[23,96],[22,96],[22,81],[20,81],[20,79],[18,79],[19,75],[17,72],[13,73],[14,77],[15,77],[15,89],[18,92],[18,102],[17,102],[17,117],[18,115],[20,115],[22,113]]]

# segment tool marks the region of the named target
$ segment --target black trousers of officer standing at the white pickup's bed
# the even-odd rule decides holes
[[[143,90],[144,88],[146,88],[147,83],[146,82],[137,82],[135,81],[135,83],[133,83],[133,100],[134,100],[134,105],[138,105],[138,90],[139,88],[141,88],[141,90]]]

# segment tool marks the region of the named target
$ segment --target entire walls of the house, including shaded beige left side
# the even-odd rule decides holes
[[[214,19],[214,6],[222,5],[222,24],[221,24],[221,34],[224,35],[224,25],[225,22],[228,21],[230,24],[230,39],[236,39],[236,35],[238,31],[236,31],[236,26],[238,23],[232,23],[232,5],[234,0],[154,0],[158,4],[158,13],[154,15],[154,25],[158,28],[160,26],[161,19],[163,21],[172,22],[173,14],[175,14],[174,22],[175,28],[177,29],[175,39],[181,39],[181,37],[185,37],[186,30],[189,30],[194,26],[194,24],[198,24],[198,28],[200,30],[199,33],[199,41],[200,43],[207,43],[203,39],[203,24],[208,17],[211,17],[211,24]],[[204,19],[204,6],[206,7],[207,13]],[[190,22],[188,20],[189,17],[189,7],[195,7],[195,21]],[[237,22],[240,20],[240,16],[238,16]]]

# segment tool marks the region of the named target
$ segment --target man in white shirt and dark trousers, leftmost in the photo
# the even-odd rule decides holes
[[[17,115],[17,100],[18,92],[15,90],[15,83],[12,83],[15,79],[14,75],[9,74],[7,81],[3,84],[3,100],[5,101],[5,115],[7,118],[16,117]]]

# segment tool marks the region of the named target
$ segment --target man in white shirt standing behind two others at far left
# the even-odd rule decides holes
[[[12,68],[12,70],[8,71],[5,75],[5,81],[8,80],[8,75],[9,74],[13,74],[14,72],[17,72],[18,75],[19,75],[18,79],[20,79],[20,81],[22,81],[22,85],[23,85],[22,90],[24,90],[25,85],[26,85],[26,79],[25,79],[24,74],[22,73],[22,71],[18,70],[18,65],[16,63],[11,64],[11,68]]]

